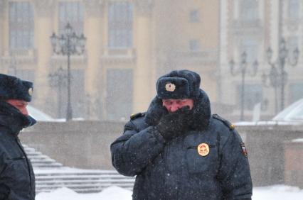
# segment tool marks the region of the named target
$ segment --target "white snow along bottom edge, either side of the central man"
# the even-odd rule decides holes
[[[132,191],[119,187],[108,187],[100,193],[78,194],[75,191],[61,188],[50,193],[40,193],[36,200],[131,200]],[[297,187],[275,185],[256,187],[252,200],[302,200],[303,190]]]

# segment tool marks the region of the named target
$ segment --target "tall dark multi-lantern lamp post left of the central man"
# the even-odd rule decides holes
[[[73,27],[70,26],[70,23],[65,26],[63,34],[60,36],[55,35],[55,33],[50,36],[53,52],[58,55],[67,55],[68,57],[68,108],[66,111],[66,121],[70,121],[73,118],[73,109],[70,99],[70,56],[83,54],[85,50],[85,41],[85,36],[83,34],[78,36],[74,32]]]

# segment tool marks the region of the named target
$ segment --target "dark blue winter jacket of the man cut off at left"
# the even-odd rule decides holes
[[[18,139],[30,125],[28,117],[0,101],[0,199],[35,199],[33,167]]]

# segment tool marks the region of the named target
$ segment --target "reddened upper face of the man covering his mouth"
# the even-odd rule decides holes
[[[189,109],[193,109],[193,99],[162,99],[162,105],[167,111],[174,113],[184,106],[189,106]]]

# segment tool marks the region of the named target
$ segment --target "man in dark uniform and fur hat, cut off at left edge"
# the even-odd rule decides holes
[[[33,83],[0,74],[0,199],[35,199],[31,162],[18,139],[36,121],[28,115]]]

